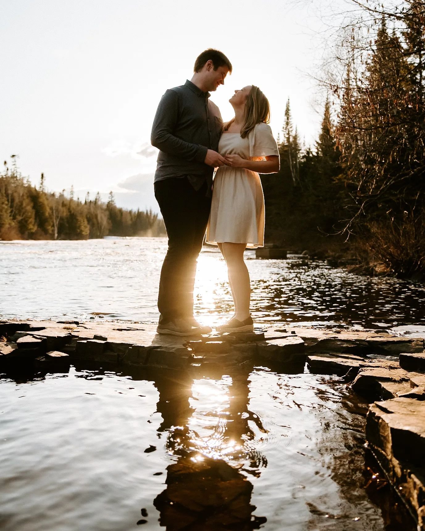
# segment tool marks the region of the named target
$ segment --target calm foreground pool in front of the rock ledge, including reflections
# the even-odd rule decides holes
[[[364,406],[245,365],[3,374],[0,527],[400,529],[363,488]]]

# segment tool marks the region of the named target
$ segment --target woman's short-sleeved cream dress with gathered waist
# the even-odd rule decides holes
[[[257,124],[247,138],[241,138],[239,133],[223,133],[218,151],[220,155],[240,155],[245,160],[279,155],[270,126],[265,123]],[[264,246],[264,195],[257,172],[230,166],[217,169],[206,242]]]

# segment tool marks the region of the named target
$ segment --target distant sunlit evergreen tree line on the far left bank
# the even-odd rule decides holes
[[[165,236],[162,219],[151,210],[119,208],[113,193],[107,203],[99,192],[84,202],[45,189],[44,175],[39,186],[23,178],[12,155],[10,167],[4,162],[0,174],[0,239],[88,239],[104,236]]]

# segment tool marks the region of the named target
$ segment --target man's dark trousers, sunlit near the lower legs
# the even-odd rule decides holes
[[[155,197],[168,236],[168,250],[159,281],[160,322],[193,316],[193,284],[197,258],[211,209],[207,181],[194,189],[187,177],[155,183]]]

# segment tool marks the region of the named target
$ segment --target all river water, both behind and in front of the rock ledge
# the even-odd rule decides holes
[[[157,320],[162,238],[0,244],[0,319]],[[253,317],[422,329],[424,289],[247,252]],[[196,310],[231,312],[204,250]],[[419,333],[419,332],[418,332]],[[2,373],[3,371],[3,373]],[[185,371],[0,367],[4,531],[411,531],[364,448],[367,404],[333,376],[249,363]]]

